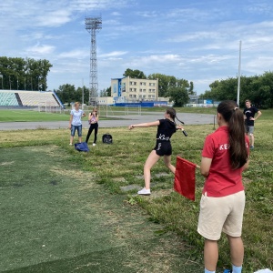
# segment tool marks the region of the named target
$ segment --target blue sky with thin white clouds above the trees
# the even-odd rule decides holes
[[[13,0],[0,4],[0,56],[47,59],[49,90],[89,86],[96,34],[98,89],[126,68],[193,81],[197,94],[215,80],[262,75],[273,66],[272,0]]]

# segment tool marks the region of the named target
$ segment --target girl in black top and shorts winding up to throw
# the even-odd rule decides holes
[[[176,110],[174,108],[167,108],[164,119],[158,119],[154,122],[141,123],[130,125],[129,130],[135,127],[149,127],[157,126],[157,143],[156,147],[151,151],[147,157],[144,166],[144,180],[145,187],[137,192],[138,195],[150,195],[150,180],[151,180],[151,168],[157,163],[160,157],[164,157],[164,163],[169,170],[175,174],[176,167],[171,164],[172,147],[170,143],[171,136],[177,132],[177,129],[183,130],[183,126],[175,123],[177,117]],[[178,121],[180,121],[177,118]],[[181,122],[181,121],[180,121]],[[182,122],[181,122],[182,123]]]

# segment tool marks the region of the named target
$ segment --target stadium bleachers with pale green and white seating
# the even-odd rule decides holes
[[[63,104],[53,91],[0,90],[0,106],[55,106]]]

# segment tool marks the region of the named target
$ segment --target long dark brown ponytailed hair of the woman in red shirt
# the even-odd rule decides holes
[[[248,149],[245,140],[244,114],[232,100],[222,101],[217,112],[228,124],[229,159],[233,169],[243,167],[248,161]]]

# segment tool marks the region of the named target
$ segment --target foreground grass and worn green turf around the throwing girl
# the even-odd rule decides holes
[[[262,112],[243,180],[244,272],[273,269],[273,111]],[[143,187],[156,128],[101,128],[98,139],[106,132],[113,145],[78,153],[65,129],[0,131],[0,272],[203,272],[203,177],[197,172],[197,201],[189,201],[172,190],[174,177],[159,162],[151,197],[125,193],[121,187]],[[199,164],[211,132],[212,125],[187,126],[187,137],[175,134],[173,163],[179,155]],[[227,249],[223,237],[219,272],[230,268]]]

